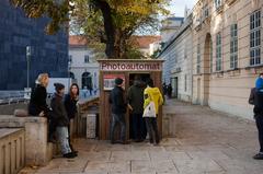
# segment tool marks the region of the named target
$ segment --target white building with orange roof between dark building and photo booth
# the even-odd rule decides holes
[[[69,37],[69,73],[80,89],[99,89],[99,63],[81,36]]]

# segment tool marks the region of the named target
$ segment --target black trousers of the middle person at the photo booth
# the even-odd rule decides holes
[[[145,140],[147,136],[146,123],[142,114],[132,114],[133,132],[135,140]]]

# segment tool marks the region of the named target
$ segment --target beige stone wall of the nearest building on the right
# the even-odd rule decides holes
[[[252,119],[252,106],[248,104],[250,89],[263,67],[250,66],[250,15],[261,10],[262,0],[225,0],[218,9],[214,0],[201,0],[193,10],[193,103]],[[204,7],[209,15],[204,16]],[[238,24],[238,67],[230,68],[230,27]],[[261,24],[262,27],[262,24]],[[221,70],[216,71],[216,35],[221,33]],[[261,28],[261,33],[263,30]],[[210,45],[213,43],[213,61]],[[197,51],[199,44],[199,54]],[[261,49],[263,35],[261,34]],[[201,72],[197,73],[197,57],[201,55]],[[263,51],[261,50],[261,62]],[[213,71],[210,71],[213,67]]]

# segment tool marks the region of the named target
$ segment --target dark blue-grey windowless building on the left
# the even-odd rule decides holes
[[[23,90],[27,82],[26,46],[30,57],[30,85],[38,73],[53,78],[67,77],[68,34],[46,35],[48,19],[27,19],[9,0],[0,1],[0,90]]]

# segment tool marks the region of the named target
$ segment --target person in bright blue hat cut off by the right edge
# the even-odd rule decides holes
[[[263,73],[255,81],[255,88],[251,89],[249,103],[254,105],[254,119],[259,131],[260,151],[253,159],[263,160]]]

